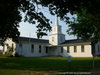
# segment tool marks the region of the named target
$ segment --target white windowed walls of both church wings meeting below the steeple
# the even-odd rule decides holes
[[[74,46],[69,46],[69,53],[67,53],[67,46],[63,46],[63,53],[61,53],[61,47],[52,46],[49,48],[48,53],[46,53],[45,47],[47,44],[32,43],[34,44],[34,53],[31,52],[31,44],[23,43],[23,48],[17,47],[17,52],[25,57],[41,57],[41,56],[57,56],[61,55],[63,57],[92,57],[91,45],[84,45],[84,52],[81,52],[81,45],[76,45],[77,52],[74,52]],[[39,45],[41,45],[41,53],[39,53]],[[18,46],[18,44],[17,44]]]

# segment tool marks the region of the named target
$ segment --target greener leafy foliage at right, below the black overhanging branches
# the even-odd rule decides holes
[[[82,9],[82,13],[77,15],[77,18],[70,23],[68,33],[85,40],[100,40],[100,15],[98,13],[92,15],[86,9]]]

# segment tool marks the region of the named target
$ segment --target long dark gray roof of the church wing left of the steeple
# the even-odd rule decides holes
[[[34,43],[49,43],[49,40],[30,38],[30,37],[19,37],[19,41],[22,41],[22,42],[34,42]]]

